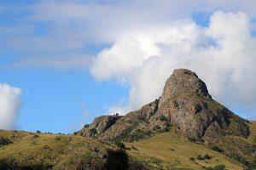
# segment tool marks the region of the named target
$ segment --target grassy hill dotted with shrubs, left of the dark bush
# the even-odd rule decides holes
[[[112,148],[107,142],[74,135],[0,130],[0,138],[11,142],[0,145],[0,167],[21,169],[101,166],[106,149]]]

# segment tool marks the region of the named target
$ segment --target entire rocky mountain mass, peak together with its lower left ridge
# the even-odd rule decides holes
[[[212,99],[195,72],[177,69],[167,79],[160,99],[125,116],[98,117],[79,134],[133,141],[166,132],[172,126],[193,140],[225,135],[247,138],[250,133],[244,119]]]

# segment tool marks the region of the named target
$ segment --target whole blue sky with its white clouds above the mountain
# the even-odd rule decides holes
[[[0,93],[1,128],[72,133],[158,98],[177,67],[196,71],[214,99],[255,119],[255,5],[2,0],[0,82],[9,88]]]

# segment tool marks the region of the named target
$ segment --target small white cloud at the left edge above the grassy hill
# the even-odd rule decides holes
[[[21,106],[20,88],[7,83],[0,84],[0,129],[15,129]]]

